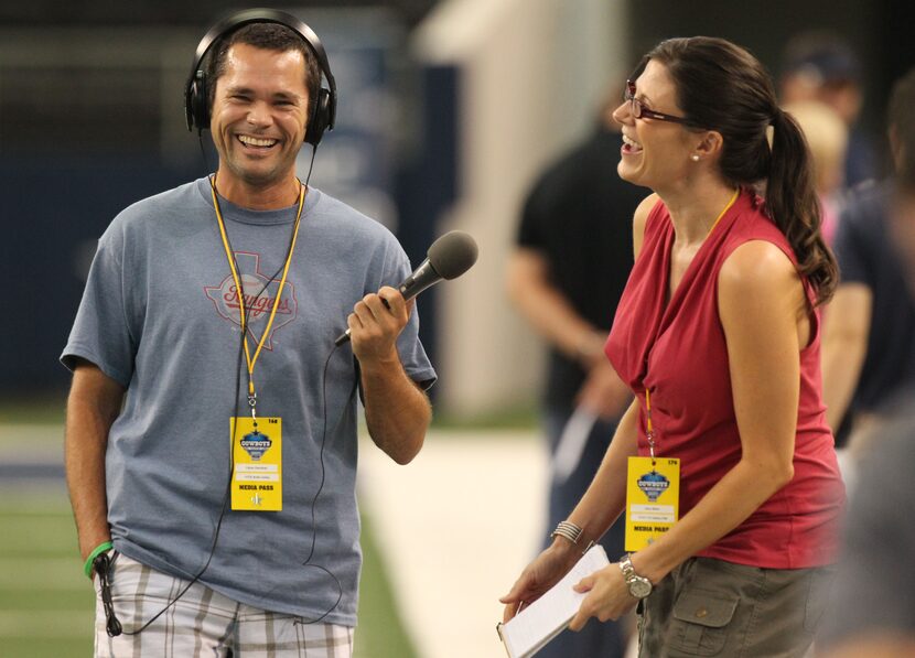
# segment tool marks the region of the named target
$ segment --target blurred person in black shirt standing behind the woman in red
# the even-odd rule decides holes
[[[542,395],[552,457],[546,538],[581,499],[598,472],[632,393],[603,354],[616,302],[632,269],[632,216],[645,191],[622,181],[614,88],[595,130],[550,164],[524,205],[509,257],[508,295],[549,344]],[[601,539],[623,553],[623,524]],[[626,628],[592,624],[564,632],[538,655],[622,657]]]

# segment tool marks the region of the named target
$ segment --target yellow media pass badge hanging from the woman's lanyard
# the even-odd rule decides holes
[[[677,522],[680,460],[629,457],[626,478],[626,551],[644,549]]]

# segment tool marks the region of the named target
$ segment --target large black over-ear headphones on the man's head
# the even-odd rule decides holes
[[[209,100],[207,96],[206,73],[203,69],[204,58],[213,45],[226,34],[248,23],[278,23],[286,25],[302,37],[314,56],[321,72],[327,80],[330,89],[321,87],[317,98],[313,100],[309,126],[305,129],[305,141],[314,147],[321,141],[325,130],[334,129],[336,120],[336,82],[331,73],[331,64],[327,62],[327,53],[317,34],[301,20],[276,9],[248,9],[234,13],[213,25],[197,45],[194,54],[194,65],[191,68],[191,76],[184,90],[184,114],[187,119],[187,130],[204,130],[209,128]]]

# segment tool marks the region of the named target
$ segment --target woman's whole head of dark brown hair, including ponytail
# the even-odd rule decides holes
[[[788,239],[817,304],[829,301],[838,267],[820,234],[810,153],[800,128],[778,108],[763,65],[744,48],[710,36],[663,41],[639,67],[648,60],[667,68],[688,126],[721,133],[724,180],[734,186],[765,185],[766,211]]]

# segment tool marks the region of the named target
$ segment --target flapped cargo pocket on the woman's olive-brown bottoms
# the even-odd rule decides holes
[[[738,608],[738,598],[696,590],[683,593],[674,604],[670,648],[687,656],[714,656],[728,640],[728,625]]]

